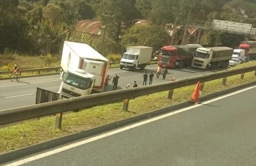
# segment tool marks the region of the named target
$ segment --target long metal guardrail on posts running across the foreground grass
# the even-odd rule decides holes
[[[21,108],[0,111],[0,125],[10,124],[18,121],[43,117],[47,115],[55,115],[62,112],[79,110],[96,105],[108,104],[117,101],[124,101],[123,109],[128,109],[129,98],[148,95],[161,91],[168,91],[168,98],[172,98],[172,93],[175,88],[181,88],[188,85],[194,85],[198,81],[204,83],[207,81],[223,78],[222,84],[225,84],[227,77],[241,74],[241,79],[244,78],[244,73],[255,71],[256,66],[235,69],[232,71],[220,71],[212,74],[181,79],[177,81],[164,82],[156,85],[148,85],[144,87],[121,89],[116,91],[103,92],[77,98],[63,99],[48,103],[31,105]],[[203,87],[203,86],[202,86]],[[202,89],[201,89],[202,90]],[[136,100],[136,99],[135,99]],[[85,102],[86,101],[86,102]]]

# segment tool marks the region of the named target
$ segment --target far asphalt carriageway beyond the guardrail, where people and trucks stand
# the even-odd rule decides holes
[[[108,74],[113,76],[119,75],[119,89],[125,88],[127,84],[133,85],[133,81],[137,81],[139,86],[142,86],[143,74],[145,72],[155,71],[156,65],[147,66],[145,70],[121,70],[120,68],[108,69]],[[176,79],[188,78],[197,75],[212,73],[216,71],[206,71],[195,68],[184,68],[168,70],[166,80],[154,77],[153,84],[170,81],[176,75]],[[44,88],[50,91],[57,92],[60,85],[60,75],[39,76],[30,78],[21,78],[19,82],[11,82],[10,80],[0,81],[0,110],[17,108],[35,104],[36,88]],[[112,90],[112,85],[109,85],[109,91]]]

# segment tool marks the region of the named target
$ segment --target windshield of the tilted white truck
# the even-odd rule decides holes
[[[67,85],[74,86],[79,89],[87,89],[90,84],[90,78],[82,78],[72,73],[67,72],[67,74],[63,78],[63,82]]]

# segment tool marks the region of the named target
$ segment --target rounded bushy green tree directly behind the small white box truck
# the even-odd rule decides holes
[[[122,45],[145,45],[154,48],[154,51],[168,44],[170,41],[169,34],[164,28],[157,25],[136,25],[131,27],[123,35]]]

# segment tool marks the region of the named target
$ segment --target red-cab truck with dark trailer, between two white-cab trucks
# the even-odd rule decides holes
[[[158,55],[158,65],[162,68],[190,67],[196,49],[202,47],[198,44],[164,46]]]

